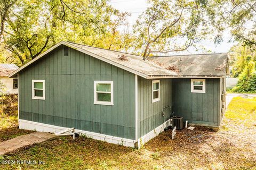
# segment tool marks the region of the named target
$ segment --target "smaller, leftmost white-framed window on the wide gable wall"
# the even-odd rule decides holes
[[[45,100],[44,80],[32,80],[32,98]]]

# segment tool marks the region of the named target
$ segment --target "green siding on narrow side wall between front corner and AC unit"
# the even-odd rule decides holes
[[[160,101],[152,103],[152,80],[138,77],[138,138],[169,120],[168,105],[172,111],[172,79],[160,79]]]

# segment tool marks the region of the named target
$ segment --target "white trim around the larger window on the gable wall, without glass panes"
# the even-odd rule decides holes
[[[110,92],[104,92],[104,93],[110,93],[111,94],[111,101],[98,101],[97,100],[97,84],[110,84],[111,91]],[[111,105],[114,106],[114,88],[113,88],[113,81],[94,81],[94,105]]]

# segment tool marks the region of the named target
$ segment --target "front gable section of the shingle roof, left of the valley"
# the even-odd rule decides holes
[[[68,46],[70,48],[74,48],[82,53],[85,53],[87,55],[98,58],[99,60],[105,61],[105,62],[115,65],[117,67],[120,67],[121,69],[124,69],[124,70],[129,71],[134,74],[137,74],[143,78],[158,77],[158,76],[163,76],[163,77],[177,76],[178,77],[178,75],[179,75],[176,72],[162,69],[162,67],[160,67],[158,64],[156,64],[154,62],[143,61],[141,56],[122,53],[122,52],[116,52],[114,50],[107,50],[107,49],[91,47],[91,46],[86,46],[86,45],[81,45],[81,44],[76,44],[76,43],[70,43],[67,41],[61,41],[60,43],[53,46],[52,48],[50,48],[43,54],[39,55],[38,57],[34,58],[27,64],[20,67],[20,69],[13,72],[12,74],[10,74],[9,77],[14,77],[17,73],[19,73],[21,70],[25,69],[28,65],[33,64],[39,58],[45,56],[46,54],[50,53],[52,50],[54,50],[55,48],[57,48],[61,45]],[[121,55],[127,56],[128,61],[119,60],[118,57],[120,57]]]

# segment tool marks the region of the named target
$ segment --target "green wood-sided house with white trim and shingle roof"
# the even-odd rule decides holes
[[[141,147],[171,125],[172,113],[218,127],[227,73],[227,54],[143,61],[61,41],[9,77],[19,80],[20,129],[75,128],[93,139]]]

